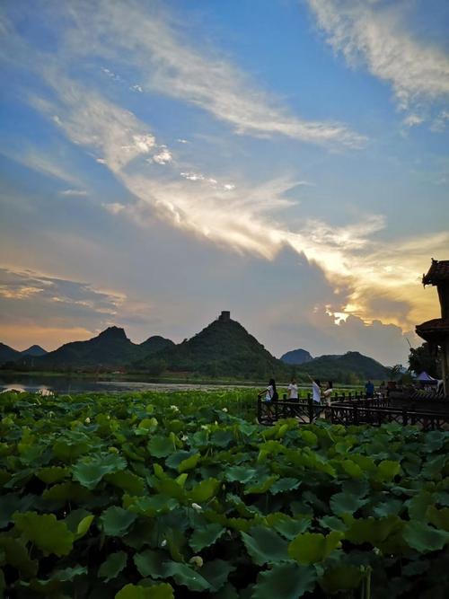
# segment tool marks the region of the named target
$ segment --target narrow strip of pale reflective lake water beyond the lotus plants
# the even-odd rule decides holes
[[[65,376],[21,376],[1,375],[0,392],[22,391],[48,393],[85,392],[129,392],[129,391],[191,391],[201,389],[224,389],[245,387],[246,385],[218,385],[205,383],[158,383],[155,381],[99,381]]]

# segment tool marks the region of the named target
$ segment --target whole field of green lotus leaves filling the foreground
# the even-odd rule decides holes
[[[449,433],[256,393],[0,396],[0,595],[449,596]]]

